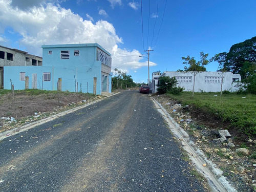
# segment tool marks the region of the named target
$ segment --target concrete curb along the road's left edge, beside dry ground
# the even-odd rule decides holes
[[[33,122],[31,122],[31,123],[28,123],[28,124],[26,124],[26,125],[23,125],[23,126],[14,128],[14,129],[12,129],[12,130],[3,132],[3,133],[0,134],[0,140],[3,140],[3,139],[5,139],[5,138],[7,138],[7,137],[10,137],[10,136],[12,136],[12,135],[16,135],[16,134],[18,134],[18,133],[20,133],[20,132],[27,131],[27,130],[29,130],[29,129],[34,128],[35,126],[38,126],[38,125],[44,124],[44,123],[46,123],[46,122],[52,121],[52,120],[54,120],[54,119],[57,119],[58,117],[67,115],[67,114],[69,114],[69,113],[73,113],[73,112],[75,112],[75,111],[77,111],[77,110],[80,110],[80,109],[85,108],[86,106],[89,106],[89,105],[91,105],[91,104],[97,103],[97,102],[99,102],[99,101],[101,101],[101,100],[103,100],[103,99],[105,99],[105,98],[112,97],[112,96],[117,95],[117,94],[119,94],[119,93],[121,93],[121,92],[115,93],[115,94],[110,95],[110,96],[106,96],[106,97],[104,97],[104,98],[102,98],[102,99],[98,99],[98,100],[96,100],[96,101],[92,101],[92,102],[87,103],[87,104],[83,104],[83,105],[77,106],[76,108],[73,108],[73,109],[70,109],[70,110],[67,110],[67,111],[60,112],[60,113],[58,113],[58,114],[56,114],[56,115],[52,115],[52,116],[50,116],[50,117],[46,117],[46,118],[43,118],[43,119],[35,120],[35,121],[33,121]]]

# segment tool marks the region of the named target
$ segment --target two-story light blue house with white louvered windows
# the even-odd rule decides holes
[[[4,67],[4,89],[61,90],[101,94],[111,92],[111,54],[98,44],[43,45],[42,66]],[[11,79],[11,81],[10,81]]]

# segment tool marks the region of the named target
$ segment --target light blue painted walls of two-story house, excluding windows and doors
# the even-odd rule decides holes
[[[57,90],[58,78],[62,80],[62,91],[93,93],[93,80],[97,77],[96,94],[101,94],[101,61],[97,61],[97,48],[106,52],[98,44],[71,44],[42,46],[43,66],[6,66],[4,67],[4,89],[11,89],[10,79],[15,90],[25,89],[25,81],[19,79],[20,72],[29,76],[29,89],[32,89],[32,74],[37,74],[37,89]],[[60,51],[70,51],[69,59],[61,59]],[[79,56],[74,51],[79,50]],[[48,54],[51,51],[51,54]],[[108,53],[108,52],[106,52]],[[108,53],[109,54],[109,53]],[[109,54],[110,55],[110,54]],[[51,73],[51,80],[42,82],[42,74]],[[111,92],[111,76],[109,91]],[[76,81],[75,81],[76,79]]]

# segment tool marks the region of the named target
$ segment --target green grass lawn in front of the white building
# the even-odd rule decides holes
[[[195,93],[194,97],[191,95],[191,92],[183,92],[179,96],[167,94],[183,105],[193,105],[205,113],[229,121],[231,126],[238,127],[243,133],[256,135],[256,95],[230,93],[223,94],[222,98],[220,93]]]

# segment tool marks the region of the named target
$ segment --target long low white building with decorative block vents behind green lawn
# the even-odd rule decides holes
[[[184,88],[184,91],[193,91],[194,75],[190,72],[181,73],[176,71],[164,71],[159,77],[175,77],[178,86]],[[201,72],[196,75],[195,92],[220,92],[221,80],[223,78],[222,91],[238,91],[236,85],[241,81],[241,75],[232,74],[232,72]],[[154,88],[157,90],[157,88]]]

